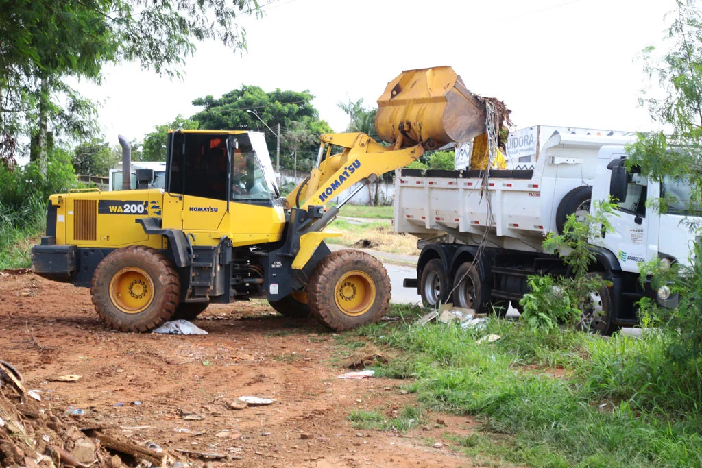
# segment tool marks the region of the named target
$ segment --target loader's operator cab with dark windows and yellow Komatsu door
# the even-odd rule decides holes
[[[232,236],[241,218],[260,218],[255,207],[280,204],[259,133],[171,131],[167,154],[164,227]]]

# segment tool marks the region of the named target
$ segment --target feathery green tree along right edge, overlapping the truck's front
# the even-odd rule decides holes
[[[687,180],[688,212],[702,215],[702,12],[694,0],[677,0],[669,15],[670,26],[663,53],[644,49],[644,71],[665,91],[662,98],[643,95],[640,102],[649,109],[661,130],[640,133],[629,148],[629,166],[654,180]],[[665,129],[665,130],[663,130]],[[673,201],[665,196],[652,203],[662,213]],[[687,218],[681,229],[701,229],[699,218]],[[658,323],[668,340],[668,357],[701,375],[702,362],[702,257],[701,244],[691,246],[688,265],[665,265],[660,260],[642,265],[642,281],[652,278],[654,290],[665,287],[678,298],[674,309],[663,309],[642,300],[644,317]]]

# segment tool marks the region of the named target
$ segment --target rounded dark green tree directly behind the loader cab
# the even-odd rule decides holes
[[[331,127],[326,121],[319,120],[319,113],[312,105],[314,95],[310,91],[275,91],[265,92],[258,86],[241,86],[239,89],[226,93],[219,99],[208,95],[196,99],[193,105],[203,106],[204,109],[191,117],[199,123],[200,128],[229,129],[253,128],[263,131],[269,148],[276,147],[277,125],[281,126],[281,165],[293,168],[293,159],[284,156],[295,151],[300,159],[314,161],[319,148],[319,135],[331,133]],[[247,112],[252,111],[252,112]],[[255,114],[254,114],[255,113]],[[260,117],[258,119],[257,115]],[[262,122],[263,121],[263,122]],[[265,122],[265,124],[264,124]],[[314,138],[307,140],[300,147],[289,146],[287,142],[297,141],[297,138],[286,138],[289,133],[297,133],[302,124]],[[287,146],[286,146],[287,145]]]

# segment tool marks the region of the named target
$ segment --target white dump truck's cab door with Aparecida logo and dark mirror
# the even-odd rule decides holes
[[[640,169],[627,171],[623,161],[623,158],[612,159],[607,166],[613,171],[610,194],[616,199],[616,209],[615,214],[609,216],[614,232],[605,234],[602,244],[616,254],[621,269],[637,273],[638,263],[651,260],[648,252],[649,224],[653,223],[655,226],[652,227],[657,227],[658,218],[647,209],[646,201],[649,197],[657,197],[653,192],[657,192],[658,187],[649,185]]]

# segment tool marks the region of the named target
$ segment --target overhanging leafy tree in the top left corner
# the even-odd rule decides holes
[[[52,132],[94,130],[95,108],[68,76],[99,83],[102,65],[122,61],[180,76],[194,41],[244,48],[234,18],[251,12],[256,0],[0,0],[0,157],[11,161],[31,135],[46,173]]]

